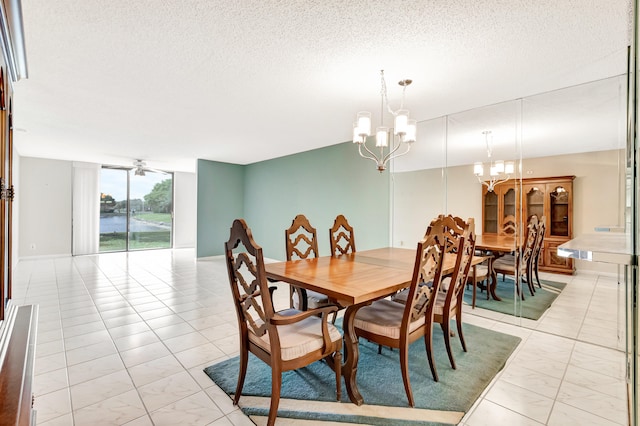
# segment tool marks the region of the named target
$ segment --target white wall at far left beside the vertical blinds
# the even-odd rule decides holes
[[[18,256],[71,254],[71,162],[22,157]]]

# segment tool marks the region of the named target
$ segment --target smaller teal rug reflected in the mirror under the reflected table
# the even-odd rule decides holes
[[[499,277],[496,294],[502,300],[493,300],[492,298],[487,300],[487,293],[480,292],[478,288],[476,290],[476,308],[537,320],[549,309],[553,301],[556,300],[556,297],[567,285],[566,283],[549,280],[540,280],[540,284],[542,288],[536,285],[536,294],[531,296],[529,287],[524,283],[525,300],[521,300],[520,305],[516,308],[514,306],[515,284],[513,279],[509,277],[500,279]],[[471,305],[473,297],[472,291],[472,287],[469,287],[464,293],[464,301],[469,305]]]

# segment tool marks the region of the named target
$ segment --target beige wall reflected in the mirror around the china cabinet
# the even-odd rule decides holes
[[[415,247],[440,213],[473,217],[482,228],[482,187],[473,166],[397,173],[394,176],[393,245]],[[523,160],[523,177],[576,176],[573,236],[602,225],[624,224],[624,150],[586,152]],[[446,188],[446,191],[445,189]],[[612,265],[576,261],[576,269],[615,272]]]

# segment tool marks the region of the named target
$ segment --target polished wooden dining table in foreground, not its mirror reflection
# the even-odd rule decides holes
[[[358,336],[354,327],[356,313],[361,307],[407,287],[413,274],[415,256],[415,250],[388,247],[336,257],[265,264],[270,280],[326,294],[332,303],[346,308],[343,318],[345,356],[342,375],[349,399],[356,405],[364,403],[356,383],[359,357]],[[472,264],[483,260],[474,256]],[[443,274],[453,272],[455,261],[455,254],[445,255]]]

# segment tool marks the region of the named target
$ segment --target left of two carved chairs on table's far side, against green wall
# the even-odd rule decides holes
[[[287,260],[318,257],[316,228],[311,226],[305,215],[297,215],[291,226],[284,231]],[[313,290],[289,286],[289,305],[301,311],[315,309],[329,304],[327,295]],[[335,316],[334,316],[335,322]]]

